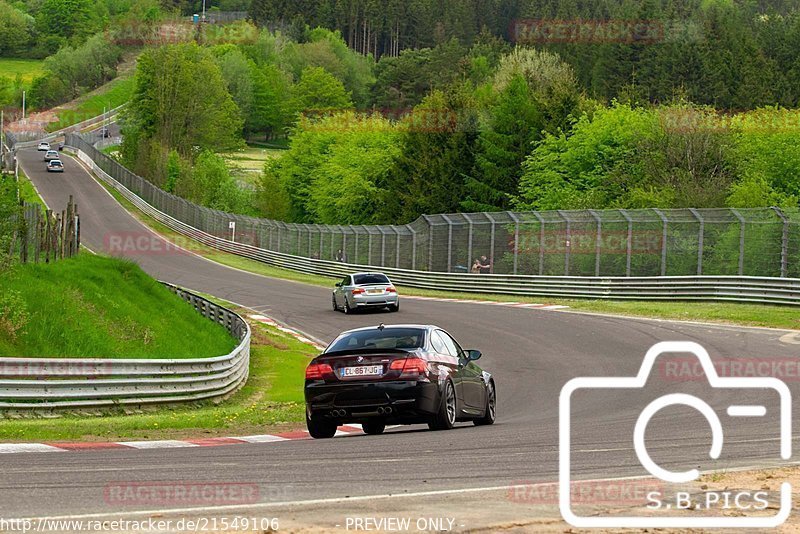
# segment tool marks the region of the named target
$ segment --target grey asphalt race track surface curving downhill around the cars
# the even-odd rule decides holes
[[[18,157],[50,206],[62,209],[68,195],[74,196],[82,241],[92,250],[106,251],[113,236],[151,235],[75,159],[65,156],[66,172],[48,174],[41,153],[26,150]],[[780,331],[504,306],[406,299],[399,314],[345,316],[330,309],[330,291],[325,288],[257,276],[174,251],[130,257],[158,279],[254,308],[326,343],[342,330],[384,321],[437,324],[464,346],[483,351],[480,363],[498,385],[499,420],[492,427],[463,424],[449,432],[414,427],[322,441],[8,455],[0,471],[0,516],[115,511],[119,506],[107,502],[104,489],[120,482],[254,483],[279,488],[280,499],[303,501],[554,481],[559,391],[569,379],[634,375],[646,350],[658,341],[696,341],[715,359],[791,361],[798,356],[797,345],[779,341]],[[663,374],[664,369],[658,366],[656,372]],[[789,385],[796,393],[795,383]],[[698,392],[720,412],[731,403],[727,393],[710,391],[702,381],[668,377],[622,394],[576,395],[573,476],[644,474],[633,453],[633,424],[647,403],[679,388]],[[740,393],[735,401],[757,398],[758,393]],[[777,411],[774,398],[764,404],[768,414]],[[705,420],[683,408],[667,409],[654,418],[647,433],[651,455],[671,468],[729,468],[780,460],[774,419],[733,421],[723,414],[721,420],[726,433],[720,460],[708,459],[710,431]],[[262,493],[265,498],[271,494]]]

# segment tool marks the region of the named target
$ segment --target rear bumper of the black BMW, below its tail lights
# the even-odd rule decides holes
[[[387,422],[421,423],[440,405],[439,385],[432,382],[312,383],[306,385],[308,415],[359,422],[375,417]]]

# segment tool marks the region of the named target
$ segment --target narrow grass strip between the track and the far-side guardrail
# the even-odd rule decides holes
[[[255,274],[261,274],[273,278],[281,278],[284,280],[291,280],[323,287],[333,286],[335,278],[280,269],[278,267],[272,267],[264,263],[206,247],[205,245],[189,239],[145,215],[133,204],[128,202],[115,189],[108,187],[105,184],[103,185],[108,191],[111,192],[117,201],[119,201],[142,223],[146,224],[174,243],[183,246],[184,248],[188,248],[189,250],[205,258],[229,267],[235,267],[237,269],[242,269],[244,271],[249,271]],[[401,294],[410,296],[558,304],[569,306],[571,311],[800,330],[800,311],[793,306],[738,304],[726,302],[651,302],[638,300],[620,301],[560,299],[550,297],[525,297],[519,295],[499,295],[486,293],[458,293],[451,291],[417,289],[412,287],[399,287]]]

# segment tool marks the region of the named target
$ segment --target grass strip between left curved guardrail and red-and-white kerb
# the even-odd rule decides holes
[[[235,309],[235,308],[234,308]],[[246,313],[238,310],[240,313]],[[254,323],[247,384],[223,403],[198,402],[101,416],[0,420],[0,441],[119,441],[265,434],[301,426],[304,369],[315,350]]]

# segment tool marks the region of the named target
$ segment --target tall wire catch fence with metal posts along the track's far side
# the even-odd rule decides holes
[[[800,210],[644,209],[423,215],[406,225],[294,224],[198,206],[81,135],[66,144],[148,204],[212,236],[283,254],[391,269],[571,277],[800,277]],[[482,257],[485,256],[485,260]]]

